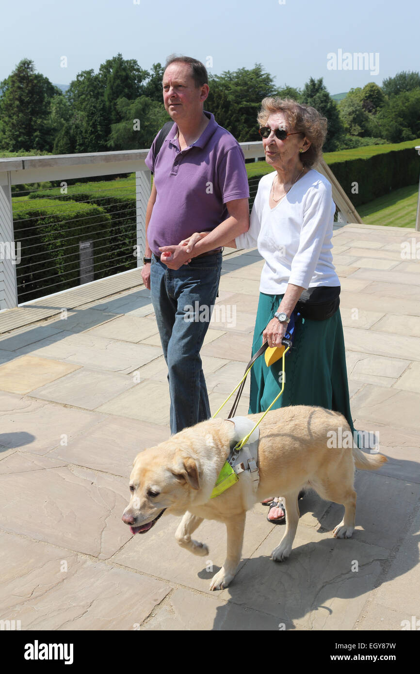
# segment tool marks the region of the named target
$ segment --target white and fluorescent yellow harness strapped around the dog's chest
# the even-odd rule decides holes
[[[231,452],[224,463],[222,470],[218,474],[216,485],[210,495],[211,499],[219,496],[221,493],[232,487],[239,480],[238,475],[247,470],[251,475],[253,491],[257,491],[260,484],[260,473],[258,472],[258,443],[260,441],[260,429],[257,427],[247,439],[247,442],[241,449],[235,450],[235,447],[241,440],[253,429],[255,422],[248,417],[232,417],[229,421],[235,424]]]

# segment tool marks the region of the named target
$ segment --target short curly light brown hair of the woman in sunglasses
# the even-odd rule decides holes
[[[299,155],[304,166],[311,168],[322,157],[322,146],[327,135],[327,120],[315,108],[298,103],[292,98],[268,96],[261,103],[258,123],[265,126],[270,115],[284,113],[291,131],[298,131],[311,142],[309,149]]]

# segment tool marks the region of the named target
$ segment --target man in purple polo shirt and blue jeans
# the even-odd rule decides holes
[[[156,136],[146,158],[154,181],[142,278],[151,289],[168,365],[173,434],[210,418],[200,349],[218,293],[220,247],[249,227],[243,152],[233,135],[204,111],[208,91],[200,61],[168,59],[163,100],[174,125],[158,155]],[[208,235],[186,253],[180,243],[194,232]],[[191,307],[200,307],[193,320]],[[206,313],[208,320],[202,321]]]

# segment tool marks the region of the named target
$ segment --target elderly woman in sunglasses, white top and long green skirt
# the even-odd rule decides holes
[[[321,156],[326,119],[294,100],[264,98],[258,122],[266,162],[274,171],[260,180],[249,231],[229,244],[257,246],[266,260],[252,354],[264,341],[280,346],[295,312],[284,392],[274,408],[319,405],[342,412],[354,431],[338,309],[340,281],[331,253],[335,205],[330,183],[312,168]],[[202,235],[185,241],[187,250]],[[267,367],[259,358],[253,365],[249,414],[265,411],[278,394],[280,362]],[[268,503],[267,519],[284,522],[281,497]]]

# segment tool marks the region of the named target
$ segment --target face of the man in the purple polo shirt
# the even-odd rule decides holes
[[[196,116],[208,96],[208,85],[196,87],[188,63],[171,63],[163,74],[164,108],[173,121]]]

